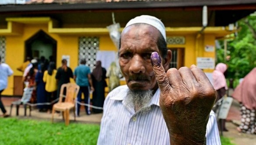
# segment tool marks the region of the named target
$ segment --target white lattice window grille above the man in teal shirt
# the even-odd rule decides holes
[[[85,58],[91,71],[96,64],[96,53],[99,50],[99,37],[79,37],[78,63]]]

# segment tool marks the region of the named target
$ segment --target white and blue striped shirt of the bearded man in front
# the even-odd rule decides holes
[[[129,88],[119,86],[109,93],[104,103],[104,113],[98,145],[170,145],[165,120],[159,106],[159,89],[153,95],[151,110],[135,112],[126,100]],[[221,145],[217,122],[211,111],[207,124],[207,145]]]

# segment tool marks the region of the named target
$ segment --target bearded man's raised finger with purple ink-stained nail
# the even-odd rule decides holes
[[[165,73],[165,69],[162,65],[161,58],[158,55],[157,52],[153,52],[151,54],[151,64],[153,66],[154,70],[154,76],[156,78],[156,81],[158,82],[158,86],[160,88],[160,91],[169,90],[170,84],[169,80],[167,78],[167,75]]]

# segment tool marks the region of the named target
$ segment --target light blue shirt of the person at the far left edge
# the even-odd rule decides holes
[[[0,63],[0,91],[7,88],[8,76],[12,74],[13,71],[8,64]]]

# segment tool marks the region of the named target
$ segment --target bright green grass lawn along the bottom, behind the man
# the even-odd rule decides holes
[[[0,118],[0,145],[96,145],[99,125]],[[231,144],[221,137],[222,145]]]

